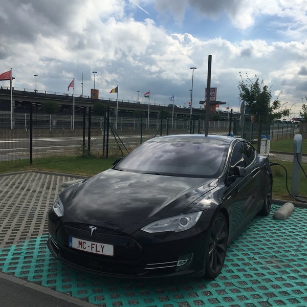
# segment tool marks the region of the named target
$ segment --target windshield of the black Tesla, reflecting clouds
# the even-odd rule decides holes
[[[130,152],[114,169],[180,177],[217,178],[224,166],[225,144],[155,141]]]

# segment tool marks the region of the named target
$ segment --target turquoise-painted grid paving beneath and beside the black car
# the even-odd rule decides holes
[[[228,247],[215,280],[133,280],[86,274],[61,264],[47,235],[0,250],[0,270],[97,306],[307,306],[307,209],[285,221],[255,217]]]

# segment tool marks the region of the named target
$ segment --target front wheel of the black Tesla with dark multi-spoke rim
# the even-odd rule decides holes
[[[228,224],[221,212],[213,218],[208,229],[205,254],[205,278],[214,279],[222,271],[228,243]]]

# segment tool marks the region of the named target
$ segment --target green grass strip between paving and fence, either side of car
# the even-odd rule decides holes
[[[116,158],[101,159],[97,157],[82,158],[82,157],[52,157],[34,159],[33,164],[29,164],[28,160],[18,160],[4,162],[1,167],[1,172],[14,172],[25,170],[42,170],[51,172],[61,172],[68,174],[78,174],[83,176],[93,176],[94,174],[112,167],[112,163]],[[278,162],[286,167],[288,171],[288,186],[291,192],[292,180],[292,162],[275,161],[270,159],[271,162]],[[0,164],[1,165],[1,164]],[[307,165],[303,165],[307,169]],[[272,166],[273,173],[273,198],[280,200],[294,201],[289,195],[286,188],[286,172],[281,166]],[[307,179],[301,172],[300,178],[300,195],[307,196]]]

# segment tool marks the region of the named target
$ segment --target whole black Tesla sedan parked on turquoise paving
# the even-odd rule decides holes
[[[135,278],[222,270],[227,245],[271,209],[267,157],[244,139],[172,135],[60,193],[51,253],[77,269]]]

